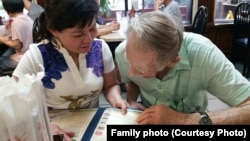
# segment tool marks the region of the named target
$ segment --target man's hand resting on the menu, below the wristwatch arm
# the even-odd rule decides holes
[[[138,117],[137,122],[139,124],[184,124],[187,115],[160,104],[144,110]]]

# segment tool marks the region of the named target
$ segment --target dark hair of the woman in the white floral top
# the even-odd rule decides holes
[[[49,0],[39,17],[36,41],[53,40],[49,29],[62,31],[79,26],[84,28],[96,18],[98,5],[94,0]]]

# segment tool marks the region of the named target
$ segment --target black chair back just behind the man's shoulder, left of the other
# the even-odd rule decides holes
[[[200,6],[195,14],[194,21],[192,23],[191,32],[203,35],[208,20],[208,9],[206,6]]]

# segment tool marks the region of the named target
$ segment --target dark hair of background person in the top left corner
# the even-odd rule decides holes
[[[23,13],[23,0],[2,0],[4,10],[9,13]]]

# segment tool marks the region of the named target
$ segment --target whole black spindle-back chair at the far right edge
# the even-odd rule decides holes
[[[242,74],[248,78],[250,73],[250,4],[247,2],[240,3],[234,12],[231,61],[235,63],[238,60],[243,61]]]

